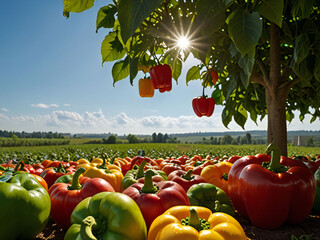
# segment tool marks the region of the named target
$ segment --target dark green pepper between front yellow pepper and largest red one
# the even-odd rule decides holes
[[[234,216],[230,198],[221,189],[211,183],[192,185],[187,192],[191,206],[209,208],[212,212],[224,212]]]

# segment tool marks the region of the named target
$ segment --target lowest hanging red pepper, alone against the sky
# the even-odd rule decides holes
[[[214,111],[214,98],[196,97],[192,100],[192,108],[198,117],[210,117]]]

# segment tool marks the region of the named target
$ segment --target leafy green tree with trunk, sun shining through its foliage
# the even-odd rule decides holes
[[[64,0],[64,15],[94,0]],[[199,60],[186,83],[214,87],[224,106],[222,122],[245,127],[248,115],[268,117],[268,142],[287,154],[287,121],[320,118],[320,2],[316,0],[114,0],[97,16],[97,31],[109,28],[102,62],[116,61],[114,84],[132,83],[144,66],[169,64],[178,81],[190,53]],[[180,36],[191,47],[177,47]],[[218,72],[214,85],[210,69]]]

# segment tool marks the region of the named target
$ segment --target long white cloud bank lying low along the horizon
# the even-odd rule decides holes
[[[319,130],[319,120],[314,124],[308,124],[310,118],[306,117],[303,124],[299,119],[294,119],[288,124],[288,130]],[[143,116],[133,118],[125,113],[106,117],[102,110],[97,112],[71,112],[52,111],[50,114],[36,116],[7,116],[0,113],[0,125],[2,129],[15,131],[54,131],[69,133],[105,133],[117,134],[152,134],[162,133],[185,133],[185,132],[223,132],[242,131],[234,121],[229,124],[229,129],[222,124],[220,114],[211,117],[192,116]],[[266,118],[256,126],[248,119],[245,130],[266,130]]]

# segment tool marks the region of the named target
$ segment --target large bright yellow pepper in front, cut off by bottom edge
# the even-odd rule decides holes
[[[240,223],[232,216],[196,206],[175,206],[152,223],[148,240],[246,240]]]

